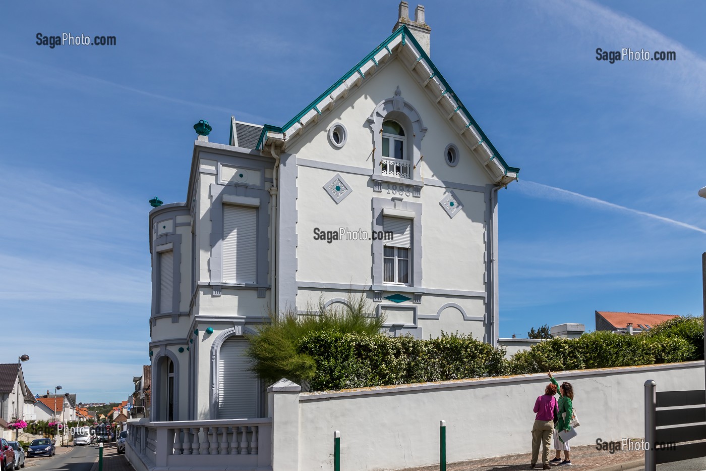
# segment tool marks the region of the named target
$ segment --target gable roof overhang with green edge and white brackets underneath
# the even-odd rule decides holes
[[[310,123],[315,123],[318,121],[319,115],[330,110],[336,100],[345,98],[349,88],[358,85],[362,79],[365,79],[366,74],[373,74],[378,64],[389,59],[393,55],[393,51],[396,54],[401,54],[402,50],[406,50],[408,53],[409,62],[412,62],[412,72],[414,73],[415,69],[419,69],[417,78],[422,88],[426,88],[437,98],[438,106],[442,107],[443,111],[448,114],[448,119],[456,124],[457,132],[465,138],[465,143],[471,150],[479,150],[476,156],[481,160],[481,164],[489,170],[489,173],[496,178],[496,183],[508,185],[508,183],[516,180],[520,169],[511,167],[505,162],[505,159],[493,146],[488,136],[486,136],[453,91],[453,88],[431,62],[431,59],[429,59],[429,56],[409,31],[407,25],[402,25],[395,30],[381,45],[378,45],[370,54],[347,71],[336,83],[282,127],[265,124],[256,143],[256,149],[264,149],[268,144],[268,140],[273,142],[282,141],[286,146],[287,141],[296,136],[301,129]],[[237,132],[239,131],[240,128],[238,127]],[[484,155],[479,156],[479,153]]]

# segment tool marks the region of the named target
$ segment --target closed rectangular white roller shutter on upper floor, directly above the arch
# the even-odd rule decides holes
[[[257,208],[223,205],[223,281],[257,281],[257,211]]]

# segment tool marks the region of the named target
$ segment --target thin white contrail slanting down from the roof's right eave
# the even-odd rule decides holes
[[[573,202],[576,204],[582,204],[584,206],[602,208],[607,209],[609,211],[621,211],[628,214],[633,214],[635,216],[643,216],[654,221],[659,221],[661,223],[668,224],[669,226],[688,229],[690,231],[697,231],[706,234],[706,229],[702,229],[700,227],[693,226],[682,221],[676,221],[676,219],[659,216],[658,214],[648,213],[647,211],[640,211],[638,209],[624,207],[620,204],[604,201],[603,199],[590,197],[585,194],[580,194],[569,190],[564,190],[563,188],[543,185],[542,183],[524,180],[517,185],[517,191],[534,197],[554,199],[564,202]]]

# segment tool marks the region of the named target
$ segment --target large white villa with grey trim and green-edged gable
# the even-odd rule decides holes
[[[362,293],[393,335],[498,344],[497,194],[519,169],[429,59],[424,7],[407,10],[284,126],[199,136],[186,202],[150,211],[152,420],[263,417],[244,334],[320,298]]]

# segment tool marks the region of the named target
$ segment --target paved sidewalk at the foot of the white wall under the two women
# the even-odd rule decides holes
[[[540,451],[539,465],[535,470],[542,470],[542,455]],[[554,458],[554,450],[549,453],[549,459]],[[563,458],[563,454],[561,455]],[[506,455],[498,458],[484,458],[482,460],[462,461],[460,463],[449,463],[446,465],[447,471],[519,471],[530,469],[530,458],[532,453],[522,453],[521,455]],[[602,470],[602,471],[622,471],[643,466],[645,459],[644,451],[623,451],[618,450],[614,454],[607,451],[596,450],[595,446],[572,447],[570,451],[572,466],[552,467],[555,470]],[[405,471],[438,471],[439,465],[409,467]]]

